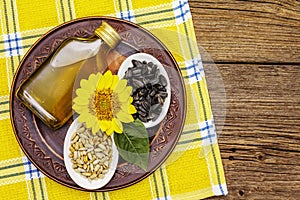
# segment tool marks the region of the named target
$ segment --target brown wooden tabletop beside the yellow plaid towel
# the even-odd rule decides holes
[[[229,194],[211,199],[300,199],[300,1],[189,4],[227,95],[218,134]]]

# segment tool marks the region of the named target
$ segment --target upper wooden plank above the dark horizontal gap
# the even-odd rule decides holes
[[[300,63],[300,1],[190,0],[198,43],[215,62]]]

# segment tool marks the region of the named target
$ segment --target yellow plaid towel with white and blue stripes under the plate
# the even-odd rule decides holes
[[[0,15],[0,199],[202,199],[227,194],[187,0],[2,0]],[[114,16],[148,29],[175,56],[187,90],[187,119],[170,158],[143,181],[104,193],[70,189],[42,174],[22,153],[9,116],[12,79],[25,52],[51,28],[86,16]]]

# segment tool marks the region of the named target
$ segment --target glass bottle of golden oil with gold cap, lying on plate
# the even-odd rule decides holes
[[[21,84],[17,97],[47,126],[61,127],[72,116],[72,94],[81,78],[103,73],[110,57],[122,60],[123,56],[112,51],[120,41],[118,33],[106,22],[90,38],[65,40]]]

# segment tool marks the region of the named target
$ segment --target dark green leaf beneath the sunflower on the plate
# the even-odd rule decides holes
[[[123,133],[114,134],[115,144],[121,157],[143,170],[147,170],[149,159],[149,137],[140,120],[123,123]]]

